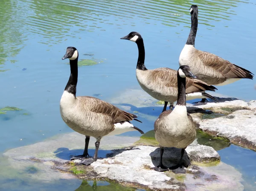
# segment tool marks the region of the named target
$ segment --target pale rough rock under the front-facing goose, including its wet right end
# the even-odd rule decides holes
[[[187,152],[186,152],[187,151]],[[188,146],[183,162],[189,158],[192,165],[186,168],[187,174],[174,174],[172,171],[158,172],[150,169],[159,164],[160,149],[151,146],[137,146],[131,150],[113,151],[114,157],[93,162],[91,166],[97,178],[107,178],[118,182],[133,182],[146,185],[152,190],[170,191],[242,191],[241,174],[235,168],[217,162],[218,153],[204,145]],[[174,157],[172,159],[172,157]],[[200,165],[198,162],[215,161]],[[165,148],[163,163],[172,166],[180,158],[180,149]]]

